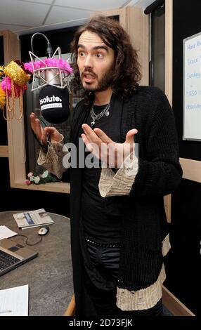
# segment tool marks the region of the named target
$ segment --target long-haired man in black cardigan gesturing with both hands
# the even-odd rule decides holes
[[[159,88],[138,85],[137,52],[115,20],[96,16],[79,27],[72,56],[74,88],[84,95],[71,142],[77,157],[87,147],[85,165],[68,170],[76,315],[162,315],[170,247],[163,197],[182,175],[174,114]],[[60,178],[63,137],[30,117],[46,145],[38,162]]]

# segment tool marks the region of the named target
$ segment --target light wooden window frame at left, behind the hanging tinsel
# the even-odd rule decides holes
[[[11,60],[20,59],[20,41],[18,36],[11,31],[3,31],[4,37],[4,62],[5,65]],[[16,103],[16,112],[19,112]],[[70,183],[46,183],[45,185],[25,185],[27,178],[25,169],[26,150],[25,150],[25,127],[24,121],[11,119],[7,121],[8,146],[0,146],[0,156],[8,157],[10,185],[13,188],[28,190],[43,190],[48,192],[70,193]]]

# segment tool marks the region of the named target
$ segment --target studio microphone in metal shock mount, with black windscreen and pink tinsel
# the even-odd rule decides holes
[[[37,32],[32,35],[32,40],[34,35],[41,34]],[[32,60],[32,71],[33,74],[44,82],[44,86],[38,86],[39,91],[39,103],[41,107],[41,115],[51,124],[61,124],[67,120],[70,115],[69,107],[69,93],[67,84],[65,82],[65,77],[72,73],[72,68],[66,60],[61,58],[60,48],[58,47],[55,53],[52,51],[52,47],[47,37],[46,38],[47,47],[45,60],[39,60],[34,62],[32,55],[34,53],[30,52],[30,58]],[[33,51],[33,47],[32,47]],[[58,51],[58,58],[54,58],[56,52]],[[36,55],[34,55],[37,58]],[[27,63],[28,66],[28,63]],[[32,81],[32,91],[34,91],[34,76]]]

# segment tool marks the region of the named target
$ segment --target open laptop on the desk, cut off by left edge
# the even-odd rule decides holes
[[[32,260],[38,255],[38,252],[28,249],[22,244],[11,239],[0,240],[0,276],[13,270],[14,268]]]

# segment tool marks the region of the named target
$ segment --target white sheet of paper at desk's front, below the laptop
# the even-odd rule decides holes
[[[0,316],[28,316],[29,286],[0,290]]]

